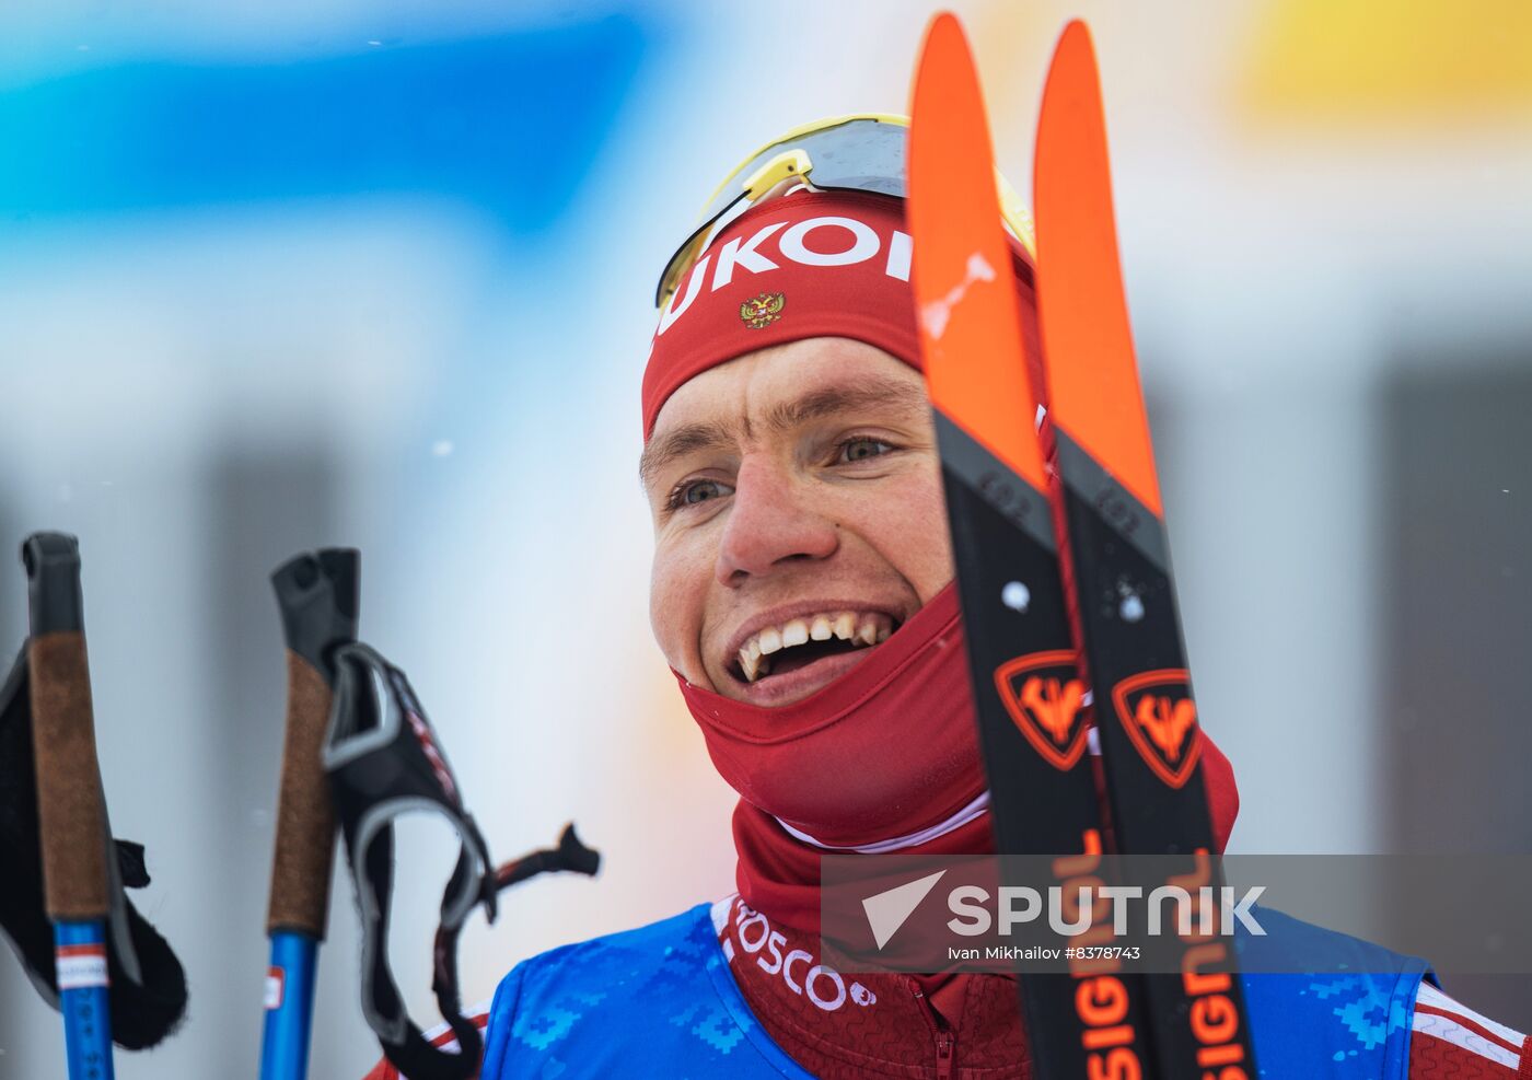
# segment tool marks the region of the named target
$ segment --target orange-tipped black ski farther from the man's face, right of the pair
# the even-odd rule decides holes
[[[1201,729],[1118,267],[1100,78],[1080,21],[1054,52],[1033,167],[1052,495],[1063,512],[1063,559],[1079,599],[1117,846],[1174,855],[1167,884],[1218,889]],[[1183,974],[1146,976],[1158,1075],[1204,1075],[1215,1063],[1226,1080],[1258,1075],[1229,938],[1172,944]],[[1198,1022],[1210,1014],[1223,1022]]]

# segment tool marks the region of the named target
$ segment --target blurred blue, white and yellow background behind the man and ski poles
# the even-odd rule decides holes
[[[1233,847],[1526,850],[1532,17],[1509,0],[954,5],[1025,191],[1069,15],[1120,233]],[[103,775],[192,980],[136,1077],[254,1069],[283,668],[267,574],[363,550],[501,858],[597,882],[475,919],[518,957],[732,889],[719,781],[648,636],[637,391],[654,280],[738,158],[905,107],[930,6],[0,9],[0,544],[80,535]],[[0,642],[20,645],[18,565]],[[411,824],[395,968],[429,1017],[453,850]],[[1380,898],[1380,902],[1391,902]],[[337,879],[314,1075],[360,1075]],[[1457,987],[1532,1023],[1526,980]],[[1449,983],[1449,990],[1454,988]],[[0,965],[0,1077],[58,1075]]]

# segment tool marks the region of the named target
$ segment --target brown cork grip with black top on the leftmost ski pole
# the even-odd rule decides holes
[[[31,602],[28,668],[47,915],[104,919],[106,801],[90,712],[80,544],[64,533],[34,533],[21,545],[21,562]]]

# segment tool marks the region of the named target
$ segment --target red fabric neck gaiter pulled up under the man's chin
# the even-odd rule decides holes
[[[994,850],[988,812],[964,813],[985,781],[953,585],[801,702],[761,708],[677,682],[714,766],[740,794],[740,896],[772,919],[818,931],[824,849]],[[1239,792],[1206,731],[1203,783],[1223,850]]]

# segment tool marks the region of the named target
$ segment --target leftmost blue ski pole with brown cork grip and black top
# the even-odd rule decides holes
[[[107,827],[90,714],[80,544],[34,533],[21,545],[32,633],[32,735],[43,887],[54,922],[69,1080],[112,1080],[107,1002]]]

